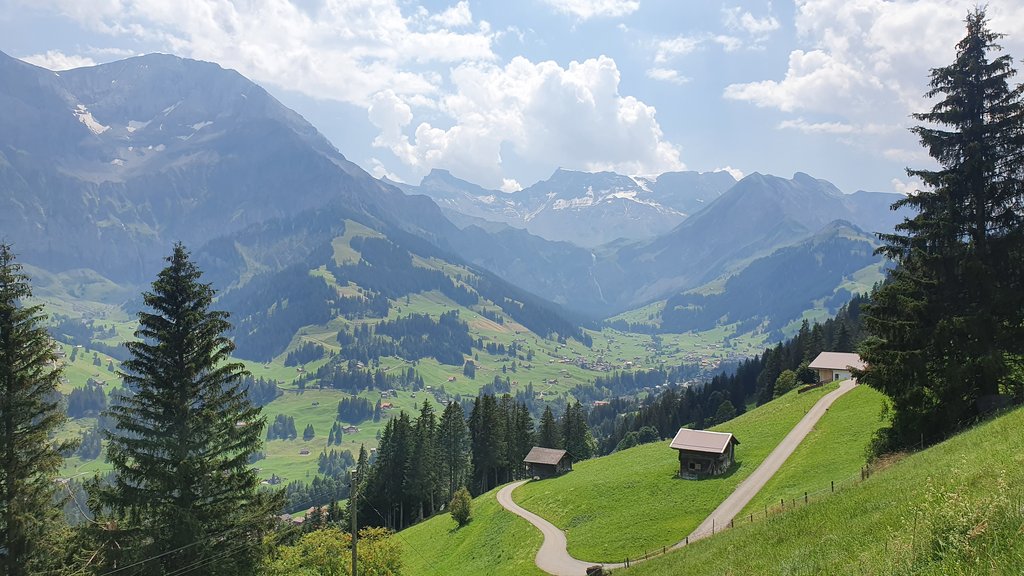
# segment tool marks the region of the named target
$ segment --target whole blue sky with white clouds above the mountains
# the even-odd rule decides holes
[[[266,88],[377,176],[513,192],[561,167],[807,172],[906,193],[974,0],[0,0],[50,70],[167,52]],[[1024,0],[991,28],[1024,57]],[[1016,60],[1015,60],[1016,61]],[[1018,65],[1019,67],[1019,65]]]

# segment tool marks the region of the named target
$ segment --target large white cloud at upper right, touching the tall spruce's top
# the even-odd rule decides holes
[[[1015,4],[1015,5],[1012,5]],[[798,0],[799,47],[781,79],[732,84],[725,98],[801,116],[779,129],[831,134],[839,141],[906,165],[933,162],[906,130],[909,116],[933,102],[929,71],[952,61],[973,0]],[[748,30],[770,23],[744,25]],[[1008,36],[1009,53],[1024,51],[1024,4],[988,7],[990,27]],[[856,135],[856,137],[853,137]]]

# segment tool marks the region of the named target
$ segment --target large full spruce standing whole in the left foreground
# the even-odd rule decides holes
[[[112,406],[113,484],[94,487],[116,527],[109,568],[145,574],[253,574],[281,505],[258,492],[249,458],[265,424],[230,362],[227,313],[180,244],[143,294],[137,341],[122,363],[130,394]]]

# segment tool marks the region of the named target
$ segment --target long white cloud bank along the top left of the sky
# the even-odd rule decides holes
[[[443,77],[432,68],[496,58],[489,25],[461,32],[472,24],[466,2],[407,14],[398,0],[22,1],[258,82],[359,106],[384,89],[435,94]]]

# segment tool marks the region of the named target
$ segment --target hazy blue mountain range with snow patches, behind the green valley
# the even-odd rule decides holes
[[[441,170],[416,187],[379,180],[240,74],[165,54],[54,73],[0,52],[0,107],[5,240],[51,273],[117,283],[151,278],[183,241],[216,285],[241,287],[350,220],[594,321],[725,285],[837,220],[870,243],[902,218],[896,195],[802,173],[559,169],[511,194]],[[829,293],[815,298],[847,268],[825,266],[815,285]]]

